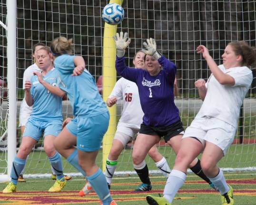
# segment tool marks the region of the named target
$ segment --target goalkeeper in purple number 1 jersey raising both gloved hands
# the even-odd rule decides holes
[[[116,69],[119,75],[133,81],[138,86],[140,104],[144,112],[143,122],[135,141],[132,158],[135,171],[138,173],[145,190],[151,189],[148,176],[148,166],[145,157],[160,138],[164,136],[177,154],[181,138],[184,133],[179,111],[174,103],[174,82],[176,65],[161,56],[156,50],[156,42],[150,38],[148,43],[143,43],[146,49],[142,51],[147,55],[145,60],[146,70],[132,69],[125,65],[125,49],[130,43],[128,34],[120,32],[114,37],[117,47]],[[213,188],[215,186],[201,171],[200,160],[195,158],[189,165],[191,170],[203,178]]]

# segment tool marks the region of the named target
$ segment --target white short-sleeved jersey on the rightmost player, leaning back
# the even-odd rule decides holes
[[[206,83],[206,97],[196,118],[216,117],[236,127],[240,107],[253,80],[252,71],[246,66],[229,69],[223,65],[218,67],[225,74],[232,76],[235,84],[233,86],[222,85],[214,75],[210,75]]]

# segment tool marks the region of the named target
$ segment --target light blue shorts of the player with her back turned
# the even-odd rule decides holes
[[[90,118],[77,117],[77,149],[87,152],[98,150],[108,123],[108,112]]]

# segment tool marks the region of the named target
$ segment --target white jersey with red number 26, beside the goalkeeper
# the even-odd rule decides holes
[[[119,123],[140,129],[144,113],[140,106],[137,85],[122,77],[115,84],[109,98],[113,96],[116,96],[118,101],[122,100],[123,110]]]

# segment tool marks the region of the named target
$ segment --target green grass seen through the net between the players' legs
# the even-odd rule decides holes
[[[168,161],[170,167],[173,167],[175,154],[168,146],[160,146],[160,153],[162,153]],[[125,149],[118,158],[117,171],[133,171],[132,149]],[[0,153],[1,155],[3,152]],[[3,159],[3,157],[1,157]],[[102,162],[102,149],[100,149],[97,164],[101,167]],[[155,163],[151,158],[147,156],[146,162],[149,170],[156,169]],[[224,158],[219,162],[221,168],[240,168],[240,167],[256,167],[256,144],[233,144],[228,149],[228,152]],[[5,160],[0,160],[0,173],[3,173],[7,167]],[[63,158],[63,170],[66,173],[77,172],[75,168],[71,167],[66,159]],[[24,174],[35,173],[50,173],[50,166],[48,158],[44,151],[32,151],[29,155],[29,159],[26,163],[26,169]]]

